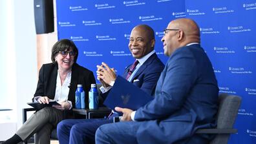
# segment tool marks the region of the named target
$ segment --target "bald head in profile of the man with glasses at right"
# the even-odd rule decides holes
[[[164,54],[171,56],[173,52],[189,43],[200,43],[200,31],[192,19],[175,19],[169,23],[162,38]]]

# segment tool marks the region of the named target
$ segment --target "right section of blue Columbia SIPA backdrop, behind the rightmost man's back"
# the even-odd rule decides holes
[[[229,143],[256,143],[256,1],[186,1],[202,46],[213,63],[220,92],[242,97]]]

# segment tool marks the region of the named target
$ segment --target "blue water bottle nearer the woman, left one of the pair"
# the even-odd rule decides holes
[[[85,91],[83,91],[83,85],[78,85],[76,89],[76,108],[85,108]]]

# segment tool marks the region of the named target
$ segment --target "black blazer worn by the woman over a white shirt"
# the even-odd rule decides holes
[[[56,91],[56,79],[58,74],[58,64],[44,64],[39,70],[39,79],[37,83],[36,96],[48,96],[49,99],[54,99]],[[83,85],[85,91],[85,107],[88,108],[88,92],[91,89],[91,84],[96,83],[91,70],[81,67],[77,63],[72,65],[72,74],[68,100],[72,102],[72,107],[76,107],[75,92],[79,85]]]

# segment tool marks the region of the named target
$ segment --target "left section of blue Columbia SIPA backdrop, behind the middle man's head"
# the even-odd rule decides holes
[[[96,74],[102,61],[122,75],[134,62],[128,47],[134,26],[147,24],[155,30],[155,50],[165,63],[161,38],[172,12],[185,16],[184,1],[63,1],[57,0],[58,38],[72,39],[79,48],[78,63]]]

